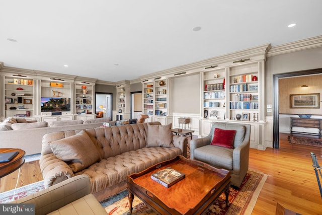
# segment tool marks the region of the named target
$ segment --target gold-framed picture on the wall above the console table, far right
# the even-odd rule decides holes
[[[320,94],[291,94],[290,108],[320,108]]]

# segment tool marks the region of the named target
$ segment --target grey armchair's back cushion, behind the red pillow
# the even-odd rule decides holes
[[[233,139],[233,148],[236,148],[237,146],[239,146],[244,140],[246,128],[243,124],[213,122],[211,131],[210,131],[212,135],[211,139],[213,139],[215,128],[220,128],[224,130],[236,130],[236,134]]]

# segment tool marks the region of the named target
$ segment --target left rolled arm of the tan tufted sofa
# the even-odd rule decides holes
[[[70,167],[53,153],[41,156],[39,165],[44,178],[45,188],[74,176]]]

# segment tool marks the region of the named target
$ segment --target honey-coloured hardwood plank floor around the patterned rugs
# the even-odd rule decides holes
[[[319,194],[310,152],[314,152],[322,164],[322,148],[290,145],[288,134],[280,134],[280,149],[265,151],[251,149],[249,168],[268,174],[252,214],[275,214],[276,204],[301,214],[322,214],[322,198]],[[0,192],[13,189],[18,171],[1,179]],[[39,162],[24,164],[20,172],[19,186],[42,180]]]

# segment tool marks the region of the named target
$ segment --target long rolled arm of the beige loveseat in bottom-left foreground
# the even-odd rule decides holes
[[[37,215],[47,214],[91,193],[90,178],[77,175],[50,188],[9,202],[34,203]]]

